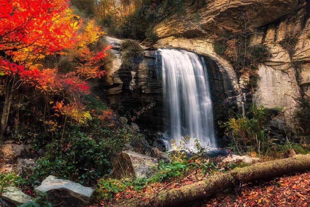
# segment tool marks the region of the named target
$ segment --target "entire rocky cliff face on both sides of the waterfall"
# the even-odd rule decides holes
[[[156,106],[138,121],[146,128],[162,128],[160,58],[156,48],[178,48],[203,56],[215,110],[215,122],[227,118],[233,105],[245,113],[253,102],[268,108],[283,107],[284,120],[290,120],[298,98],[310,95],[310,1],[308,0],[209,0],[197,5],[186,0],[185,15],[173,15],[155,26],[159,40],[144,54],[124,60],[119,41],[114,46],[117,57],[111,65],[104,94],[121,113],[139,110],[151,102]],[[247,14],[255,34],[251,45],[263,44],[271,58],[259,65],[255,92],[243,86],[243,79],[223,56],[215,53],[214,42],[222,35],[242,28],[240,18]],[[180,19],[182,18],[182,19]],[[285,118],[286,117],[286,118]]]

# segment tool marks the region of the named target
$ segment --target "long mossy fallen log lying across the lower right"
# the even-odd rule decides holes
[[[266,180],[306,170],[310,170],[310,155],[295,155],[286,159],[272,160],[233,169],[228,173],[214,175],[204,181],[180,188],[159,191],[145,200],[140,198],[126,200],[118,204],[117,207],[188,206],[188,203],[195,200],[204,200],[217,192],[236,186],[237,183]]]

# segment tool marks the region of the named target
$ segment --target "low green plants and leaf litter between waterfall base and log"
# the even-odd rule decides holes
[[[103,177],[99,180],[95,196],[97,199],[111,199],[119,192],[131,189],[137,193],[142,192],[147,186],[155,183],[177,182],[193,173],[199,172],[201,176],[207,176],[216,171],[213,162],[206,159],[206,152],[209,150],[208,146],[202,146],[200,140],[196,135],[191,139],[193,142],[192,150],[189,151],[191,156],[186,155],[184,150],[185,144],[190,141],[190,137],[182,137],[180,145],[171,142],[173,151],[170,151],[170,162],[165,163],[163,160],[159,161],[157,173],[152,177],[146,179],[142,178],[122,178],[120,180],[111,177]]]

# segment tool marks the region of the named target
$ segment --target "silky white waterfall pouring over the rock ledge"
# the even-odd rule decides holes
[[[202,145],[216,147],[205,61],[192,52],[158,51],[162,56],[164,107],[170,119],[167,137],[179,143],[182,136],[196,133]]]

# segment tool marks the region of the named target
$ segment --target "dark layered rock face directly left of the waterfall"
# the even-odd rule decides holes
[[[104,99],[116,109],[120,115],[139,111],[155,102],[151,110],[147,110],[136,120],[139,127],[159,130],[162,125],[162,99],[160,96],[158,76],[161,69],[160,58],[155,50],[145,50],[133,57],[122,57],[122,40],[104,37],[113,46],[113,63],[107,65],[107,81],[101,83],[97,91],[104,94]],[[114,48],[117,45],[117,48]]]

